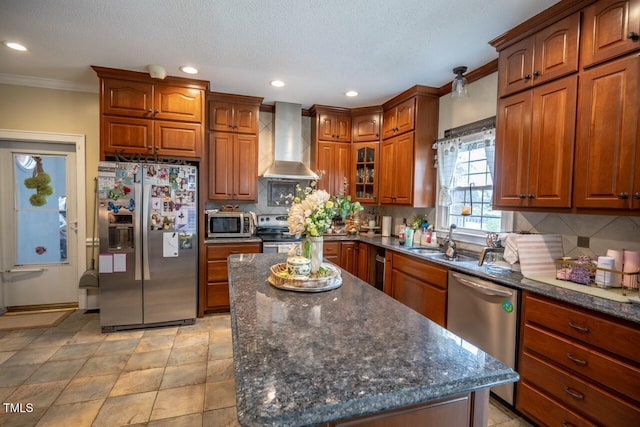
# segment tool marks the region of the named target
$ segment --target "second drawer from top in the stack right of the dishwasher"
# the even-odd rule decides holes
[[[640,369],[566,338],[525,325],[524,346],[640,402]]]

